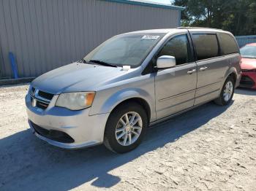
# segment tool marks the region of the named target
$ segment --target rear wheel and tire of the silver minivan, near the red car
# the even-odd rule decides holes
[[[232,90],[230,90],[228,87],[230,87],[229,85],[232,85]],[[235,82],[233,77],[227,77],[223,87],[222,87],[222,91],[219,95],[219,98],[217,98],[216,100],[214,100],[215,104],[219,105],[219,106],[227,106],[228,104],[230,104],[230,101],[233,98],[234,95],[234,91],[235,91]],[[227,96],[228,93],[229,95]],[[227,96],[227,97],[226,97]]]

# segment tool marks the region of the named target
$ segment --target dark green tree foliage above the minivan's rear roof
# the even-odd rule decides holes
[[[222,28],[235,35],[256,34],[256,0],[175,0],[186,9],[182,26]]]

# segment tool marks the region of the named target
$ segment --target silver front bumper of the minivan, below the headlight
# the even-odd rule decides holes
[[[49,144],[65,149],[90,147],[103,142],[105,124],[109,113],[90,116],[89,109],[70,111],[54,106],[56,98],[57,95],[53,97],[48,108],[43,110],[37,108],[37,106],[32,106],[30,95],[26,95],[26,112],[29,118],[29,126],[35,136]],[[34,125],[46,131],[61,131],[72,138],[72,143],[49,139],[50,136],[39,133]]]

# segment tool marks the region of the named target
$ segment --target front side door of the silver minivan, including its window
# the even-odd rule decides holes
[[[157,54],[176,58],[176,67],[159,70],[155,76],[157,120],[192,107],[197,85],[197,65],[192,58],[189,36],[171,38]]]

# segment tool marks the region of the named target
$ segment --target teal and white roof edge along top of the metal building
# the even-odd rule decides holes
[[[184,10],[184,7],[178,7],[171,4],[161,4],[157,2],[152,1],[144,1],[144,0],[103,0],[103,1],[111,1],[121,4],[134,4],[134,5],[140,5],[145,7],[157,7],[157,8],[163,8],[163,9],[176,9],[176,10]]]

